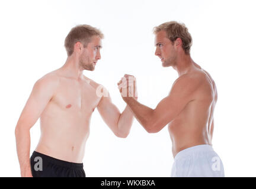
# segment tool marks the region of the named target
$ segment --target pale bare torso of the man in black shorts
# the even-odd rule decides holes
[[[75,80],[53,71],[59,85],[40,116],[41,137],[36,151],[64,161],[81,163],[92,112],[100,102],[98,84]]]

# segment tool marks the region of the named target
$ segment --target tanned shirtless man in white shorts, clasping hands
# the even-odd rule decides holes
[[[215,82],[190,57],[192,38],[184,24],[166,22],[155,27],[154,33],[155,55],[161,58],[163,67],[172,66],[179,77],[155,109],[122,97],[149,133],[168,125],[174,156],[172,177],[224,177],[222,161],[212,147]],[[124,79],[136,82],[134,76],[124,75],[118,83],[120,92],[134,87],[122,82]]]

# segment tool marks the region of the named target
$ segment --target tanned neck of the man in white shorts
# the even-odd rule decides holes
[[[190,54],[182,53],[177,57],[176,64],[173,67],[178,72],[178,76],[188,73],[188,71],[194,66],[194,61],[190,57]]]

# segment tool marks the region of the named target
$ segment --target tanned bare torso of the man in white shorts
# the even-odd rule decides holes
[[[195,145],[212,145],[213,112],[217,101],[215,82],[209,73],[195,64],[189,73],[192,77],[200,77],[203,81],[196,93],[191,96],[182,112],[168,125],[172,140],[174,157],[185,148]]]

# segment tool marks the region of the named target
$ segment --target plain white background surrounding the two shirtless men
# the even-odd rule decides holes
[[[33,84],[66,61],[63,47],[77,24],[103,31],[101,60],[85,76],[103,84],[123,111],[117,82],[137,78],[139,102],[155,108],[178,74],[154,55],[152,28],[183,22],[193,37],[191,57],[216,82],[213,148],[227,177],[255,177],[254,1],[1,1],[0,177],[19,177],[14,129]],[[31,128],[31,152],[40,136]],[[174,162],[167,127],[149,134],[137,120],[126,139],[114,136],[97,111],[91,119],[87,177],[169,177]]]

